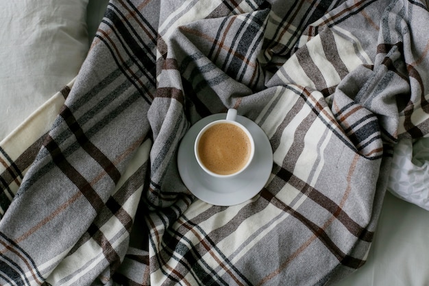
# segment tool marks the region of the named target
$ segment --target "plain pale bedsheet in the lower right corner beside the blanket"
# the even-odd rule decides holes
[[[429,285],[429,212],[387,193],[367,263],[335,286]]]

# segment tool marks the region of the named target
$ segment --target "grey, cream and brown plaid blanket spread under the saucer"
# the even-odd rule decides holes
[[[0,144],[1,285],[328,285],[358,269],[393,145],[429,131],[425,1],[111,0],[75,82]],[[228,108],[265,187],[197,200],[177,147]]]

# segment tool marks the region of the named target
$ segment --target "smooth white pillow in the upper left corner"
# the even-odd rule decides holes
[[[77,75],[89,48],[87,4],[0,2],[0,141]]]

